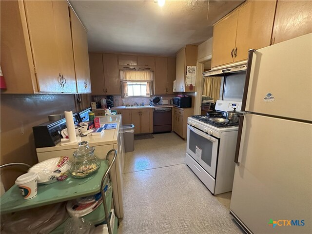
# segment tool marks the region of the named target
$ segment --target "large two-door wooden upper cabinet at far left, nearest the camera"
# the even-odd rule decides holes
[[[0,1],[3,93],[76,93],[67,1]]]

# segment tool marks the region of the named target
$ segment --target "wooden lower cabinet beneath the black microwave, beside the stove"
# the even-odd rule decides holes
[[[174,107],[173,128],[174,132],[186,139],[187,137],[187,118],[194,114],[194,108]]]

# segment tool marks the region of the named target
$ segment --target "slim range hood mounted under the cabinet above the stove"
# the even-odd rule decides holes
[[[213,68],[210,71],[203,72],[203,77],[226,77],[233,73],[245,72],[247,69],[247,60]]]

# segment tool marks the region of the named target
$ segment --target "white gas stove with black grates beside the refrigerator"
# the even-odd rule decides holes
[[[228,121],[226,112],[240,107],[241,102],[217,100],[217,120],[222,122],[188,117],[186,164],[215,195],[232,191],[238,123]]]

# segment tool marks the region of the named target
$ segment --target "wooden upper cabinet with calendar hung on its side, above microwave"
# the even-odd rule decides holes
[[[197,46],[186,45],[176,54],[176,91],[195,92],[195,86],[186,84],[187,66],[196,66]]]

